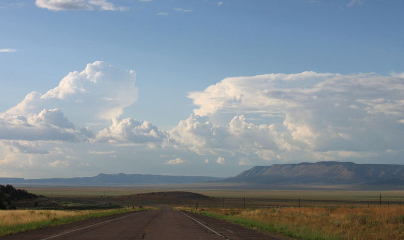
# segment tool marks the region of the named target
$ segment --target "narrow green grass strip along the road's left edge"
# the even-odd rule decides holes
[[[120,208],[115,210],[102,210],[99,212],[93,212],[86,215],[79,215],[74,217],[64,217],[64,218],[54,218],[49,221],[40,221],[40,222],[31,222],[25,224],[16,224],[12,226],[0,226],[0,236],[15,234],[19,232],[25,232],[29,230],[35,230],[50,226],[58,226],[72,222],[83,221],[91,218],[104,217],[114,214],[121,214],[126,212],[140,211],[139,209],[130,209],[130,208]]]

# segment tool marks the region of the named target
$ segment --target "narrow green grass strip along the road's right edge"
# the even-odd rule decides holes
[[[249,219],[244,219],[235,216],[228,216],[228,215],[220,215],[211,212],[199,212],[199,211],[192,211],[201,215],[206,215],[208,217],[213,217],[216,219],[224,220],[227,222],[231,222],[246,228],[258,230],[258,231],[265,231],[275,234],[280,234],[287,237],[297,238],[297,239],[310,239],[310,240],[320,240],[320,239],[327,239],[327,240],[341,240],[342,237],[338,235],[331,235],[326,234],[320,231],[316,231],[314,229],[298,227],[290,229],[286,225],[283,224],[273,224],[273,223],[264,223],[261,221],[254,221]]]

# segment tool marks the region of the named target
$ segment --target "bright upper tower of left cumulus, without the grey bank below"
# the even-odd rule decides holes
[[[6,114],[29,116],[42,109],[59,108],[73,122],[111,120],[137,100],[136,74],[105,62],[87,64],[70,72],[46,93],[31,92]]]

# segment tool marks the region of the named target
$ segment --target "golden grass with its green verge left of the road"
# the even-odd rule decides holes
[[[0,236],[138,210],[0,210]]]

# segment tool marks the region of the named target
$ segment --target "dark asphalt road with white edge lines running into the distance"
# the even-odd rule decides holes
[[[170,209],[125,213],[1,239],[279,239],[196,213]]]

